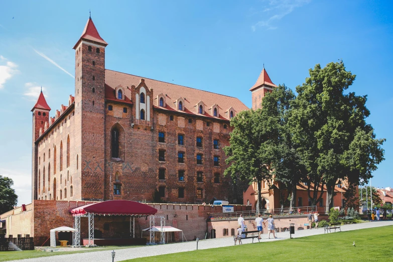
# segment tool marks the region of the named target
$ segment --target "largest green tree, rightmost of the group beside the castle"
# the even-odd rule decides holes
[[[296,106],[291,114],[291,132],[300,145],[302,163],[310,182],[326,185],[326,211],[333,206],[338,179],[351,183],[367,181],[383,160],[381,145],[365,118],[370,114],[366,96],[346,90],[355,75],[342,61],[309,70],[310,77],[298,86]]]

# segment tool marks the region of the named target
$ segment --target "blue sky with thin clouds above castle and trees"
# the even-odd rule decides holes
[[[373,186],[393,186],[391,1],[7,1],[0,9],[0,174],[31,202],[31,108],[42,85],[51,115],[74,95],[74,51],[91,9],[106,68],[238,97],[263,64],[295,87],[342,59],[350,91],[368,95],[368,122],[386,138]]]

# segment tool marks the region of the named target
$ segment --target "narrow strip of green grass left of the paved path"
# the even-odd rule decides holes
[[[61,254],[74,254],[74,253],[104,251],[104,250],[113,250],[113,249],[116,250],[116,249],[122,249],[122,248],[130,248],[130,247],[138,247],[138,246],[137,245],[133,245],[133,246],[85,247],[86,250],[80,250],[80,251],[58,251],[58,252],[45,252],[45,251],[38,251],[38,250],[2,251],[2,252],[0,252],[0,261],[9,261],[9,260],[34,258],[34,257],[42,257],[42,256],[52,256],[52,255],[61,255]],[[55,261],[55,259],[53,259],[53,260]]]

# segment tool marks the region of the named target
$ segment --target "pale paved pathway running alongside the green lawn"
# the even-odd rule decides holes
[[[379,226],[393,225],[393,221],[379,221],[379,222],[369,222],[369,223],[361,223],[361,224],[351,224],[351,225],[343,225],[341,226],[341,231],[350,231],[356,229],[363,228],[372,228]],[[320,229],[306,229],[306,230],[298,230],[295,231],[293,237],[303,237],[310,235],[318,235],[323,234],[323,228]],[[263,235],[261,239],[262,242],[267,241],[277,241],[282,239],[289,238],[289,232],[282,232],[277,234],[277,239],[267,239],[267,234]],[[273,234],[271,234],[273,237]],[[256,239],[255,239],[256,240]],[[254,240],[254,241],[255,241]],[[251,243],[251,239],[244,239],[243,244]],[[198,243],[198,249],[208,249],[215,247],[223,247],[223,246],[231,246],[233,245],[233,237],[224,237],[224,238],[215,238],[215,239],[206,239],[201,240]],[[145,257],[152,255],[160,255],[160,254],[170,254],[184,251],[192,251],[196,249],[196,242],[189,241],[184,243],[173,243],[173,244],[165,244],[165,245],[154,245],[154,246],[142,246],[142,247],[133,247],[133,248],[124,248],[117,249],[115,261],[122,261],[131,258],[137,257]],[[105,251],[96,251],[96,252],[86,252],[86,253],[70,253],[64,255],[56,255],[56,256],[46,256],[46,257],[38,257],[38,258],[30,258],[23,259],[19,261],[23,262],[49,262],[49,261],[58,261],[58,262],[68,262],[68,261],[94,261],[94,262],[107,262],[110,261],[111,250]],[[15,261],[15,260],[13,260]]]

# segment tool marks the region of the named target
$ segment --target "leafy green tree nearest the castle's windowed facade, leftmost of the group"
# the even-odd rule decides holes
[[[230,121],[233,126],[230,146],[223,148],[228,156],[225,163],[229,165],[224,175],[257,183],[258,210],[262,209],[261,181],[272,177],[270,165],[274,145],[271,138],[277,136],[273,123],[265,122],[265,119],[266,111],[262,109],[239,112]]]

